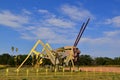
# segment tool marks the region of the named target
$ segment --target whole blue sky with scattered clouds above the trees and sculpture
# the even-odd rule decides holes
[[[83,22],[91,18],[79,44],[81,54],[120,56],[119,0],[1,0],[0,54],[28,54],[40,39],[53,49],[73,45]]]

